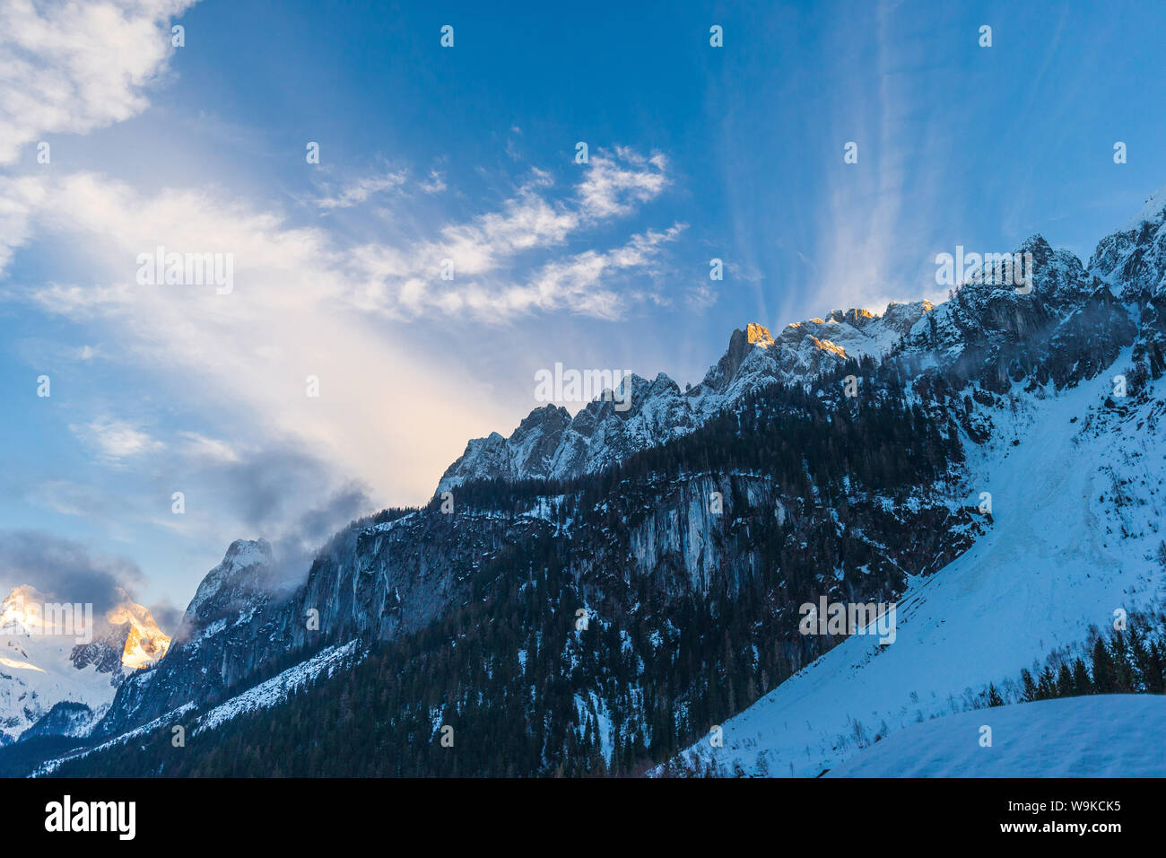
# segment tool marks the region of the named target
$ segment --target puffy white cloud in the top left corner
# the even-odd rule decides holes
[[[44,134],[145,110],[174,50],[170,19],[192,1],[0,0],[0,163]]]

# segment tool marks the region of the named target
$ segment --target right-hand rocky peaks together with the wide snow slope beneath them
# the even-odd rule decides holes
[[[1163,191],[1097,245],[1086,271],[1033,238],[1033,295],[968,286],[904,354],[955,367],[975,393],[969,503],[992,528],[913,579],[892,646],[845,640],[687,754],[746,773],[815,775],[913,723],[969,709],[1114,612],[1166,600],[1166,277]],[[985,371],[986,370],[986,371]],[[981,493],[988,493],[982,495]]]

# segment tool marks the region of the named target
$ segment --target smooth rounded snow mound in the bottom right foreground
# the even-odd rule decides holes
[[[991,727],[991,747],[979,744]],[[962,712],[908,727],[828,777],[1166,777],[1166,697],[1097,695]]]

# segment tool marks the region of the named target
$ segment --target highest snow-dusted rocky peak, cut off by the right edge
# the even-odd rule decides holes
[[[1123,229],[1097,243],[1089,271],[1110,285],[1121,285],[1125,300],[1166,295],[1166,186]]]

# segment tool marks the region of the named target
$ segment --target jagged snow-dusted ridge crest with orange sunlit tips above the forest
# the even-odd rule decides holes
[[[648,382],[626,376],[617,392],[588,403],[573,418],[567,409],[532,411],[508,437],[493,432],[466,445],[437,491],[470,480],[570,479],[595,473],[632,454],[688,434],[744,396],[778,382],[805,383],[840,361],[886,354],[927,312],[928,301],[892,304],[876,315],[831,311],[827,319],[789,325],[777,339],[758,322],[735,330],[729,348],[700,384],[681,391],[667,375]]]

